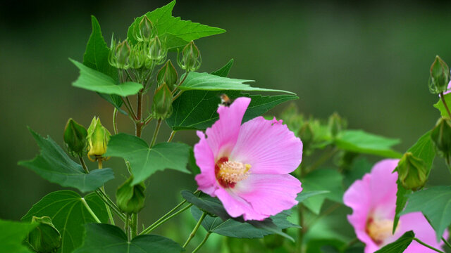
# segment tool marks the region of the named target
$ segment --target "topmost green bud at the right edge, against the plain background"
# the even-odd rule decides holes
[[[430,72],[429,91],[435,94],[446,91],[447,85],[450,82],[450,67],[448,67],[440,56],[435,56]]]

